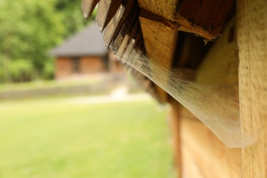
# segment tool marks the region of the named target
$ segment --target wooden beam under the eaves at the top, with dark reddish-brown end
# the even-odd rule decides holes
[[[139,0],[140,16],[160,21],[180,31],[187,31],[207,40],[222,34],[229,16],[233,15],[234,0]]]

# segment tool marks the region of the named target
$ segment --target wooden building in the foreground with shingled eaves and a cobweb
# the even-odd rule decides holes
[[[267,177],[267,1],[83,0],[86,18],[97,3],[107,49],[171,107],[179,177]]]

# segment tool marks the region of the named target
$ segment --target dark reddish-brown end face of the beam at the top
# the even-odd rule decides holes
[[[234,0],[180,0],[177,6],[177,22],[181,23],[181,19],[186,18],[191,25],[199,26],[203,31],[218,36],[232,15],[234,5]]]

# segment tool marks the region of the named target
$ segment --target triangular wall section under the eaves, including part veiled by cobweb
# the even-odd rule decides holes
[[[183,89],[183,99],[194,104],[180,102],[229,147],[240,147],[238,52],[232,27],[230,24],[205,56],[195,73],[195,85]]]

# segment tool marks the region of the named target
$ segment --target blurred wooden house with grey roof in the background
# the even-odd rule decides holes
[[[56,57],[55,79],[84,79],[103,74],[123,74],[116,57],[105,49],[96,22],[71,36],[50,52]]]

